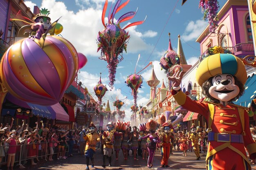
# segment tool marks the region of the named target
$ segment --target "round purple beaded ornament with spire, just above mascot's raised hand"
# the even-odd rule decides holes
[[[173,76],[173,74],[177,71],[182,71],[183,68],[180,66],[180,56],[173,50],[171,46],[171,38],[169,35],[169,45],[168,50],[164,53],[164,55],[160,59],[161,69],[165,70],[166,76]],[[169,91],[171,91],[171,81],[168,83]]]

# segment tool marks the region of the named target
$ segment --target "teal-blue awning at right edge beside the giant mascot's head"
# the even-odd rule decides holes
[[[235,104],[244,106],[244,107],[251,107],[252,100],[256,96],[256,75],[249,77],[245,83],[245,93],[236,100]]]

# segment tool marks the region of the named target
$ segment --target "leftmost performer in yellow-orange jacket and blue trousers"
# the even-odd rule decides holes
[[[89,170],[89,159],[92,162],[92,168],[94,168],[94,154],[96,144],[100,141],[99,134],[96,132],[96,126],[91,123],[89,128],[89,133],[86,134],[86,131],[83,130],[83,139],[86,141],[85,146],[85,158],[86,158],[86,170]]]

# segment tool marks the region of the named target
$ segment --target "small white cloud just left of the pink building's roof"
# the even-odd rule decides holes
[[[185,41],[191,41],[196,40],[199,35],[204,31],[205,27],[208,25],[207,21],[204,20],[196,20],[190,21],[189,24],[187,24],[185,32],[182,35],[182,38]]]

